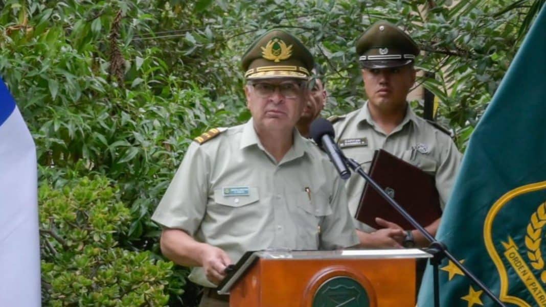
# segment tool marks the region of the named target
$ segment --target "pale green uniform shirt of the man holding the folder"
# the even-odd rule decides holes
[[[462,155],[449,135],[415,115],[411,107],[408,106],[406,116],[389,135],[373,122],[368,103],[359,110],[337,118],[334,129],[336,141],[343,153],[348,158],[360,162],[366,172],[370,167],[373,152],[384,149],[433,174],[443,209],[455,182]],[[353,174],[346,182],[349,211],[352,216],[358,208],[364,183],[364,178],[357,174]],[[354,222],[362,231],[375,230],[355,219]]]

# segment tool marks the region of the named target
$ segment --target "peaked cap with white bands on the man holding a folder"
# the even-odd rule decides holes
[[[419,47],[410,35],[382,20],[357,40],[357,55],[362,68],[400,67],[414,61]]]

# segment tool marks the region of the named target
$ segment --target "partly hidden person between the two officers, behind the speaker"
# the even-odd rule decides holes
[[[300,131],[301,136],[310,137],[310,126],[311,123],[319,116],[321,116],[321,111],[324,109],[326,104],[327,92],[324,88],[324,82],[320,79],[320,76],[316,73],[316,70],[313,69],[314,75],[314,84],[311,88],[311,91],[308,95],[307,103],[305,104],[304,111],[301,112],[301,117],[296,128]],[[312,82],[312,81],[311,81]]]

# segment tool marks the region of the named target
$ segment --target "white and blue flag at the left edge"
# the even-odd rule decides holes
[[[36,148],[0,79],[0,306],[40,306]]]

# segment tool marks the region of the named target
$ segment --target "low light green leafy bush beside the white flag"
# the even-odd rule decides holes
[[[44,305],[165,306],[173,263],[118,247],[130,224],[104,177],[39,191]]]

